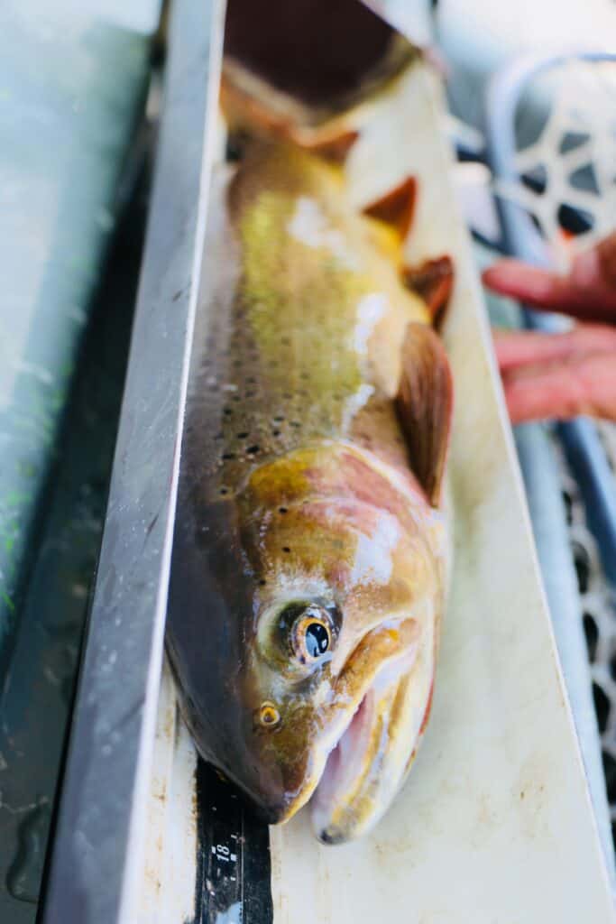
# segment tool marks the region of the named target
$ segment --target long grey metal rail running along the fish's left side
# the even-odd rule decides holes
[[[177,0],[114,474],[45,924],[131,918],[163,655],[180,419],[209,186],[222,4]],[[212,92],[214,95],[212,96]],[[205,158],[206,161],[209,157]]]

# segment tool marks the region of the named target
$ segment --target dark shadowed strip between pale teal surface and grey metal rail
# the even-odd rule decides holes
[[[139,271],[143,203],[94,306],[0,699],[0,921],[37,912],[103,515]]]

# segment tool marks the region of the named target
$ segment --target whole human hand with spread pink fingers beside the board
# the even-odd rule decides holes
[[[512,422],[578,414],[616,420],[616,232],[579,254],[566,275],[502,260],[483,282],[538,310],[580,320],[565,334],[496,332]]]

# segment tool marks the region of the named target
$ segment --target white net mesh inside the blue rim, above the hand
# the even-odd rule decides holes
[[[568,60],[531,87],[517,107],[519,179],[495,190],[533,216],[564,268],[616,221],[616,62]]]

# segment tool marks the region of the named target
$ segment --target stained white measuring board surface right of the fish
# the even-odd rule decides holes
[[[351,152],[354,199],[419,178],[410,261],[449,252],[455,561],[434,707],[371,835],[271,829],[275,924],[605,924],[614,910],[562,686],[477,273],[454,202],[444,108],[414,68]]]

